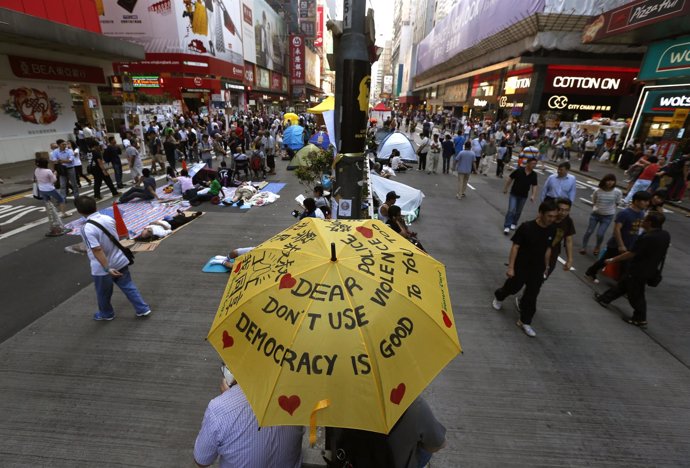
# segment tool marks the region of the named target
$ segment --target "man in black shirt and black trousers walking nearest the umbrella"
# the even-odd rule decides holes
[[[524,287],[522,296],[515,298],[515,307],[520,314],[516,325],[532,338],[537,336],[532,328],[532,318],[537,311],[537,296],[549,268],[551,246],[556,234],[553,223],[557,213],[552,200],[544,201],[539,205],[537,218],[522,223],[515,231],[506,271],[508,278],[494,292],[491,304],[494,309],[501,310],[503,301]]]

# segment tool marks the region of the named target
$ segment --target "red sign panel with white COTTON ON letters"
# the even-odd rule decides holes
[[[544,92],[622,96],[631,92],[637,72],[637,68],[550,65]]]

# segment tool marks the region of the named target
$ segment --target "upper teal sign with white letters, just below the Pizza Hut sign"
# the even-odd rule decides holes
[[[640,80],[690,77],[690,36],[651,44],[642,61]]]

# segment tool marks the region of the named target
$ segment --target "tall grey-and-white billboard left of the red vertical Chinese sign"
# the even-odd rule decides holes
[[[283,73],[287,51],[285,23],[264,0],[254,0],[254,43],[256,64]],[[249,60],[249,59],[247,59]]]

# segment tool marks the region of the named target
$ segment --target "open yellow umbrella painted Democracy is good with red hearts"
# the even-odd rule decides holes
[[[460,352],[445,267],[378,220],[306,218],[239,257],[208,340],[259,425],[381,433]]]

